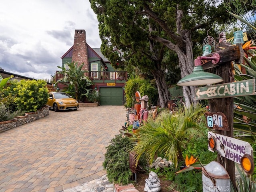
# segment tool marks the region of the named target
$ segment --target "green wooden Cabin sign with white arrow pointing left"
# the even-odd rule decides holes
[[[196,88],[195,100],[255,95],[255,79]]]

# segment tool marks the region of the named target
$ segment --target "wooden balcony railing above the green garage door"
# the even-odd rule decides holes
[[[58,81],[64,76],[62,71],[56,71],[55,80]],[[92,81],[93,80],[127,80],[127,71],[89,71],[85,73]]]

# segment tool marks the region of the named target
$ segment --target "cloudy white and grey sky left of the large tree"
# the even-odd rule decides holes
[[[98,20],[89,0],[0,0],[0,67],[36,79],[50,79],[73,45],[75,29],[100,48]]]

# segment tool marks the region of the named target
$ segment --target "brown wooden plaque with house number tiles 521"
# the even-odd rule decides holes
[[[222,112],[206,112],[204,116],[206,117],[208,128],[214,130],[229,131],[228,119]]]

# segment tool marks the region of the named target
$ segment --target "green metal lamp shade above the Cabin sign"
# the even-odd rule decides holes
[[[222,82],[223,79],[213,73],[204,72],[202,66],[195,66],[192,74],[185,76],[177,83],[178,86],[197,86]]]

